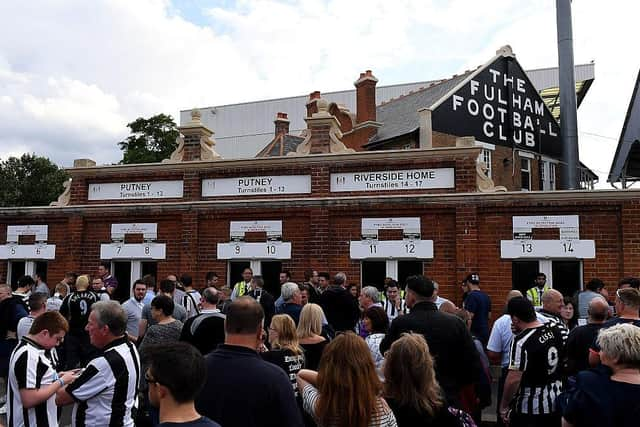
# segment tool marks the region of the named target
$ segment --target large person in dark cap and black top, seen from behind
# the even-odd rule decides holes
[[[461,408],[460,391],[475,380],[480,359],[466,325],[459,318],[438,311],[433,281],[425,276],[407,279],[406,304],[411,312],[396,317],[380,343],[384,354],[405,332],[422,334],[434,357],[436,379],[447,403]]]

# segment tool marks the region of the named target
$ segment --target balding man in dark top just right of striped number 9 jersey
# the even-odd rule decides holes
[[[567,340],[568,375],[589,369],[589,347],[607,320],[609,304],[604,298],[595,297],[589,302],[587,312],[589,323],[572,330]]]

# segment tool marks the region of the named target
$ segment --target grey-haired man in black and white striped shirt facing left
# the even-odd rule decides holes
[[[82,375],[58,391],[56,403],[75,401],[75,427],[132,427],[137,404],[140,358],[126,336],[127,315],[116,301],[93,304],[87,331],[91,344],[102,350]]]

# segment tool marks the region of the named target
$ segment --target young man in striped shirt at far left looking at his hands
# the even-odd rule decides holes
[[[43,313],[14,349],[9,362],[8,427],[57,427],[56,392],[76,377],[73,372],[58,376],[47,353],[68,330],[69,324],[60,313]]]

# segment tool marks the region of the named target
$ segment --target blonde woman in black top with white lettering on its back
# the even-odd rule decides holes
[[[296,375],[304,367],[304,352],[298,344],[296,324],[288,314],[277,314],[271,319],[269,344],[271,350],[262,353],[262,358],[280,366],[286,372],[298,396]]]

